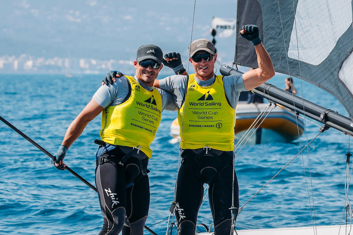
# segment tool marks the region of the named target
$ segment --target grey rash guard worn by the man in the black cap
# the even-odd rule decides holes
[[[140,86],[151,91],[153,87],[146,86],[143,84],[136,76],[134,79],[138,82]],[[157,88],[158,92],[162,97],[162,111],[169,110],[174,111],[177,106],[175,106],[172,94],[162,89]],[[103,108],[108,106],[116,106],[122,103],[128,94],[129,86],[127,78],[122,77],[120,79],[116,79],[116,82],[113,85],[102,85],[96,93],[93,95],[93,99]]]

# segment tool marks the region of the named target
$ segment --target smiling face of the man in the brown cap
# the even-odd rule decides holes
[[[205,53],[208,53],[208,52],[197,51],[195,53],[195,55],[201,55],[201,54],[205,54]],[[189,58],[192,66],[194,67],[196,78],[203,80],[203,81],[212,78],[214,75],[213,69],[215,67],[216,58],[217,58],[217,54],[214,55],[210,61],[205,61],[202,58],[201,62],[195,62],[192,60],[192,58]]]

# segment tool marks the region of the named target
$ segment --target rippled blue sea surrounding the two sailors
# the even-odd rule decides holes
[[[68,125],[91,100],[103,77],[0,74],[0,116],[54,154]],[[276,75],[269,82],[284,88],[284,78]],[[299,79],[294,80],[294,85],[299,96],[303,93],[305,99],[347,116],[339,101],[325,91],[308,83],[301,84]],[[172,138],[169,127],[176,117],[177,112],[163,112],[151,146],[147,226],[169,216],[179,157],[178,144],[169,142]],[[67,166],[93,185],[98,147],[93,141],[99,138],[100,123],[100,116],[92,120],[65,157]],[[307,132],[292,143],[244,147],[235,164],[240,205],[286,165],[300,151],[300,146],[304,147],[318,134],[317,125],[310,122],[306,125]],[[244,206],[237,228],[340,224],[345,206],[348,144],[348,136],[332,128],[319,135],[310,144],[309,151],[296,157]],[[94,190],[68,171],[55,169],[47,155],[2,122],[0,146],[0,234],[99,233],[103,219]],[[346,212],[343,221],[345,216]],[[207,199],[199,211],[198,222],[207,225],[212,222]],[[167,221],[163,221],[150,228],[157,234],[165,234],[166,226]]]

